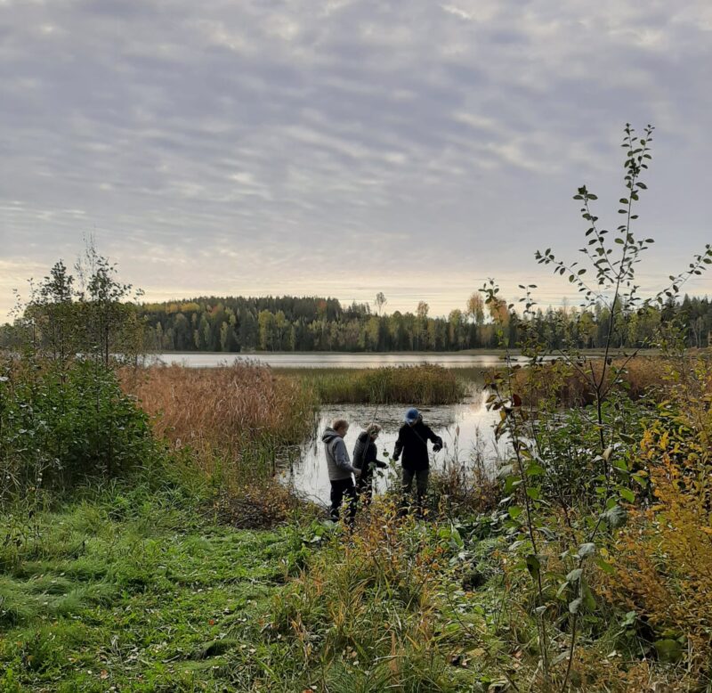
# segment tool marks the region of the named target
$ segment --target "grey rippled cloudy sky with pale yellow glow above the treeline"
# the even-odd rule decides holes
[[[0,0],[0,319],[86,234],[150,299],[556,304],[533,252],[581,183],[619,223],[627,121],[655,288],[712,241],[711,112],[708,0]]]

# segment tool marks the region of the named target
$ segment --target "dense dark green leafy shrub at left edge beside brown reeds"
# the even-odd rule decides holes
[[[0,379],[0,497],[118,477],[158,454],[148,417],[101,364],[6,364]]]

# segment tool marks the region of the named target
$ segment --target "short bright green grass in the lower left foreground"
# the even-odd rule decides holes
[[[0,538],[27,538],[3,554],[0,690],[256,685],[246,643],[303,559],[301,537],[218,526],[164,500],[119,519],[110,500],[0,518]]]

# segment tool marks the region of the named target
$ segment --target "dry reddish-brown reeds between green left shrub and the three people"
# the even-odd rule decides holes
[[[309,388],[266,366],[190,369],[153,366],[124,371],[122,383],[153,420],[157,436],[190,446],[204,470],[219,461],[252,461],[312,430],[317,402]]]

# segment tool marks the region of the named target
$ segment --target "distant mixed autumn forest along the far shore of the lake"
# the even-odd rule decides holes
[[[504,301],[486,306],[479,293],[465,310],[447,317],[431,317],[425,302],[413,313],[386,314],[386,302],[383,294],[375,306],[342,306],[336,298],[209,297],[143,304],[139,317],[146,325],[146,346],[156,351],[459,351],[499,346],[495,313],[510,345],[522,329],[522,317]],[[549,307],[529,320],[550,348],[597,348],[609,330],[610,313],[603,305]],[[643,313],[625,311],[613,326],[615,346],[644,346],[660,322],[670,321],[684,326],[688,346],[710,345],[712,305],[708,298],[685,296]]]

